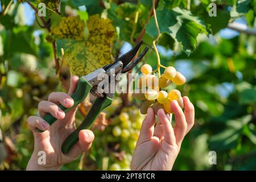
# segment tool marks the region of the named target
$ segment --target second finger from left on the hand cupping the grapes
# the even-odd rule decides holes
[[[164,140],[168,143],[174,146],[175,143],[175,135],[174,135],[174,129],[172,129],[172,125],[166,114],[164,113],[163,109],[159,109],[158,111],[158,118],[159,122],[162,124],[163,127],[163,136]]]

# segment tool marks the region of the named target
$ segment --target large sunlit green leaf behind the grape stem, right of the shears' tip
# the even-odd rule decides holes
[[[196,49],[197,35],[201,32],[208,34],[207,26],[203,19],[193,16],[190,11],[176,7],[172,10],[157,10],[156,15],[160,32],[171,35],[176,42],[181,43],[183,51],[188,56]],[[146,32],[151,37],[157,35],[154,17],[148,22]]]

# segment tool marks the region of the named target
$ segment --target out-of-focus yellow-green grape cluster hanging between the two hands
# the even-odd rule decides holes
[[[121,158],[110,158],[110,170],[130,170],[131,156],[135,149],[144,116],[137,107],[126,107],[113,118],[108,126],[112,129],[109,142],[118,142]],[[113,139],[114,138],[114,139]]]

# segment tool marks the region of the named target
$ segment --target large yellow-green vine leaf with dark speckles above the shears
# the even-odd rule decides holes
[[[86,41],[58,39],[57,50],[64,48],[64,63],[72,75],[83,76],[113,62],[112,43],[115,29],[110,19],[90,16],[87,22],[89,36]]]

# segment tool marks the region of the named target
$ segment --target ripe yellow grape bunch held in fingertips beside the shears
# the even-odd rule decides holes
[[[176,71],[174,67],[166,67],[160,78],[155,76],[152,67],[149,64],[144,64],[141,67],[143,73],[137,81],[139,93],[133,93],[133,96],[138,100],[143,101],[141,105],[141,114],[146,114],[148,107],[152,107],[155,114],[159,109],[164,109],[166,113],[172,113],[171,101],[176,100],[181,109],[183,109],[183,98],[179,90],[171,90],[167,93],[165,90],[168,85],[173,82],[176,85],[183,85],[186,78],[182,73]]]

